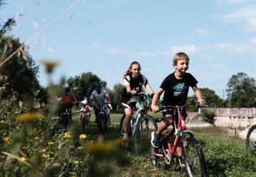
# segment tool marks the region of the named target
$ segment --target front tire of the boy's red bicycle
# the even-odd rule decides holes
[[[183,140],[183,160],[188,176],[207,176],[206,159],[198,141],[193,137]]]

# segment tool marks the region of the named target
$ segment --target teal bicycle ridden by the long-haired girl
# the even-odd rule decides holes
[[[137,93],[133,96],[133,99],[137,101],[139,107],[135,115],[132,115],[131,123],[129,124],[128,135],[134,139],[135,151],[139,152],[139,146],[149,147],[151,132],[157,130],[156,120],[148,115],[149,106],[151,104],[151,98],[146,93]],[[119,136],[124,136],[124,118],[125,114],[122,115],[122,119],[119,125]],[[146,145],[146,146],[144,146]]]

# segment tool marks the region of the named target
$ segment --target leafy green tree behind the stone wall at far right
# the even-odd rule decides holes
[[[255,106],[256,96],[255,79],[243,72],[233,74],[228,80],[228,99],[230,107],[250,108]]]

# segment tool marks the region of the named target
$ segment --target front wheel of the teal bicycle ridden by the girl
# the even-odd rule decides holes
[[[144,115],[140,125],[137,127],[137,135],[135,136],[135,148],[137,152],[149,152],[151,132],[156,130],[156,120],[150,115]]]

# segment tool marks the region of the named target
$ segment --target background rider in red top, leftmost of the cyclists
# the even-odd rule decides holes
[[[65,88],[63,96],[60,98],[60,104],[63,105],[63,109],[68,108],[68,113],[70,113],[70,122],[72,120],[72,105],[78,103],[77,98],[71,92],[70,87]]]

